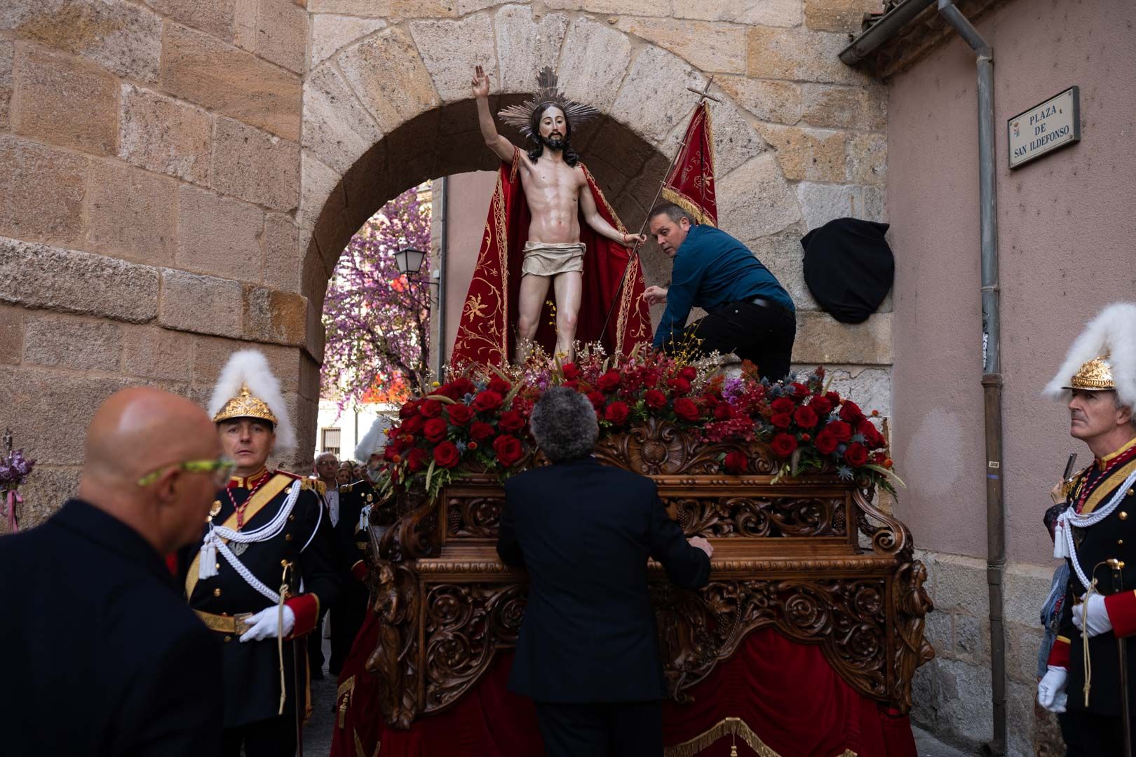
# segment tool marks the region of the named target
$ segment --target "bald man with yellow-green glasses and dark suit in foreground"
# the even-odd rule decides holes
[[[91,421],[78,497],[0,538],[0,751],[219,754],[219,645],[162,557],[200,538],[219,453],[200,407],[125,389]]]

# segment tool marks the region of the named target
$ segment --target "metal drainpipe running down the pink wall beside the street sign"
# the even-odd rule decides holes
[[[978,202],[982,208],[983,414],[986,431],[986,583],[989,589],[991,691],[994,739],[989,754],[1005,754],[1005,501],[1002,490],[1002,355],[997,266],[997,190],[994,165],[994,51],[954,7],[938,0],[938,12],[978,56]]]

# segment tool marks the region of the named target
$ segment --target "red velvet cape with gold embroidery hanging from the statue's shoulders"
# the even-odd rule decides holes
[[[474,278],[458,322],[458,336],[450,359],[450,364],[454,367],[467,363],[501,365],[513,351],[520,263],[531,220],[518,175],[520,160],[518,150],[512,163],[502,163],[498,174]],[[584,168],[584,175],[600,215],[620,232],[626,232],[587,168]],[[583,216],[579,218],[579,239],[587,250],[584,253],[584,293],[576,338],[585,343],[600,340],[608,309],[618,296],[619,303],[607,333],[602,335],[602,343],[608,354],[627,354],[636,344],[650,342],[652,336],[651,316],[642,298],[643,269],[638,258],[630,259],[628,266],[629,251],[593,232]],[[627,286],[620,288],[625,268]],[[549,298],[553,298],[551,287]],[[551,320],[545,312],[536,331],[536,342],[550,355],[557,340]]]

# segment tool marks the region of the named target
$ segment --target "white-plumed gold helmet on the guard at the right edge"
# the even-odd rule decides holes
[[[1068,389],[1116,392],[1121,404],[1136,406],[1136,303],[1109,305],[1074,340],[1045,393]]]

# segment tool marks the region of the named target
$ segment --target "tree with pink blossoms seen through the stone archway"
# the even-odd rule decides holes
[[[327,344],[321,396],[400,402],[428,380],[431,207],[412,187],[351,237],[324,298]],[[427,253],[421,274],[399,272],[394,253]]]

